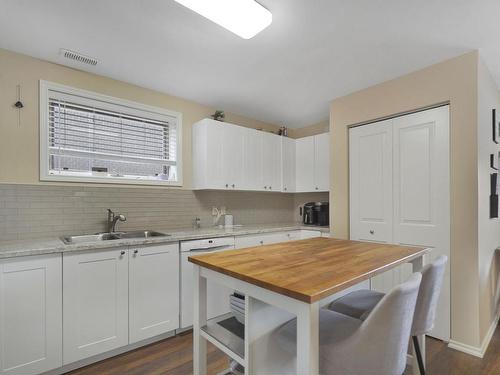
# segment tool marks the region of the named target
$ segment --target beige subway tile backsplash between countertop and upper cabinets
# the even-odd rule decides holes
[[[195,217],[211,226],[212,206],[225,206],[235,224],[299,222],[298,205],[311,200],[328,193],[0,184],[0,240],[100,232],[107,208],[127,216],[122,230],[190,228]]]

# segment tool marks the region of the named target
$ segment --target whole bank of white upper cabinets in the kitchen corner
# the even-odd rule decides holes
[[[203,119],[193,125],[192,147],[197,190],[329,190],[329,133],[294,140]]]

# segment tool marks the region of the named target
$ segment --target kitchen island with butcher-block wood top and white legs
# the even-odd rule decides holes
[[[245,367],[245,374],[271,374],[280,353],[272,331],[297,317],[297,374],[319,368],[319,309],[338,293],[400,264],[413,271],[429,249],[334,238],[313,238],[192,256],[195,264],[194,374],[206,374],[207,340]],[[217,337],[206,317],[207,279],[246,295],[243,348]],[[213,324],[212,324],[213,326]]]

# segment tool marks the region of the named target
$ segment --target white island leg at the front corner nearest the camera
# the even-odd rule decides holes
[[[319,303],[304,303],[297,314],[297,375],[319,374]]]

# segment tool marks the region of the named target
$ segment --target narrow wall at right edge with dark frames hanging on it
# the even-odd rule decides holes
[[[497,313],[500,264],[495,249],[500,245],[500,220],[489,218],[490,154],[500,148],[491,135],[491,110],[500,121],[500,93],[488,68],[478,64],[478,246],[480,337],[485,337]]]

